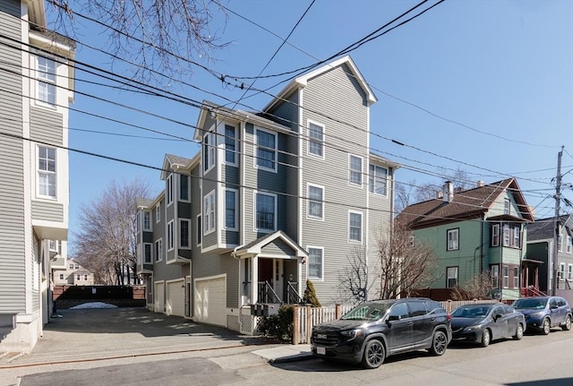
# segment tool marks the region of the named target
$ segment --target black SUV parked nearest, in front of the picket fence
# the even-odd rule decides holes
[[[312,329],[312,354],[324,359],[377,368],[386,356],[427,349],[446,352],[451,340],[450,315],[431,299],[410,297],[357,305],[338,321]]]

